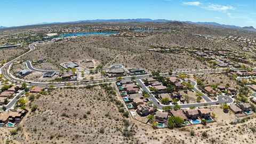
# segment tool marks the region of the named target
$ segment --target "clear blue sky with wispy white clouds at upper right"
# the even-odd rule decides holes
[[[150,18],[256,28],[255,0],[1,0],[0,5],[0,26]]]

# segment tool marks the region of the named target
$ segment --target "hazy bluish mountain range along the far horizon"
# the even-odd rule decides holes
[[[166,19],[96,19],[96,20],[78,20],[78,21],[69,21],[69,22],[42,22],[42,23],[36,23],[34,25],[47,25],[47,24],[60,24],[60,23],[77,23],[77,22],[174,22],[174,20],[166,20]],[[194,25],[211,25],[211,26],[219,26],[219,27],[226,27],[226,28],[237,28],[237,29],[243,29],[243,30],[250,30],[250,31],[256,31],[255,28],[252,26],[250,27],[239,27],[234,25],[222,25],[217,22],[192,22],[192,21],[178,21],[178,22],[185,22],[190,23]],[[0,26],[0,29],[7,28]]]

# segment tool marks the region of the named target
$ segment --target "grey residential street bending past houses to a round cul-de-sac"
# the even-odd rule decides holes
[[[143,82],[141,82],[140,79],[135,79],[135,81],[141,85],[141,88],[143,91],[146,91],[149,95],[149,99],[151,101],[153,101],[153,104],[158,108],[158,109],[163,109],[164,106],[167,105],[162,105],[161,103],[159,103],[156,98],[154,97],[154,95],[147,89],[147,87],[144,85]],[[198,90],[199,91],[199,90]],[[201,92],[202,93],[202,92]],[[207,96],[206,96],[207,97]],[[208,98],[208,97],[207,97]],[[209,98],[208,98],[209,99]],[[226,100],[225,100],[226,99]],[[210,99],[209,99],[210,100]],[[214,106],[217,105],[218,103],[222,104],[222,103],[231,103],[234,100],[226,95],[219,95],[217,97],[217,101],[207,101],[207,102],[201,102],[201,103],[188,103],[188,104],[180,104],[179,106],[181,108],[190,108],[190,107],[204,107],[205,104],[207,104],[207,106]],[[173,105],[170,105],[173,106]]]

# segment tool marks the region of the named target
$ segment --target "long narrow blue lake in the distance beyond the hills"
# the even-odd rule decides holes
[[[118,34],[117,32],[92,32],[92,33],[69,33],[69,34],[63,34],[58,36],[50,36],[50,37],[44,37],[45,39],[49,38],[60,38],[60,37],[67,37],[67,36],[85,36],[85,35],[114,35]]]

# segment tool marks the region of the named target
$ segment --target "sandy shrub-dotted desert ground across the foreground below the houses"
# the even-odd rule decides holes
[[[117,95],[114,98],[117,99]],[[155,130],[129,118],[129,129],[133,127],[135,135],[126,138],[122,134],[126,118],[100,86],[56,89],[36,99],[31,103],[34,105],[37,110],[26,115],[17,134],[24,134],[26,139],[10,143],[255,143],[256,140],[251,130],[256,124],[255,116],[245,123],[231,125],[229,122],[234,117],[223,113],[219,107],[211,108],[217,122],[206,126]],[[100,132],[102,128],[103,133]],[[10,129],[0,130],[2,135],[8,135]],[[190,135],[191,130],[194,136]],[[202,136],[203,132],[206,137]]]

